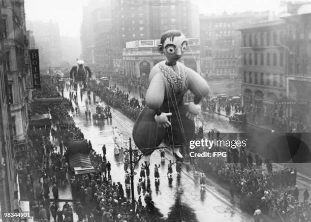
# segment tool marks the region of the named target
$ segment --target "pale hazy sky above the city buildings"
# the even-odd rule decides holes
[[[275,10],[280,2],[280,0],[192,1],[199,5],[200,13],[204,14]],[[79,37],[82,6],[86,4],[87,0],[25,0],[26,20],[52,20],[58,23],[61,36]]]

